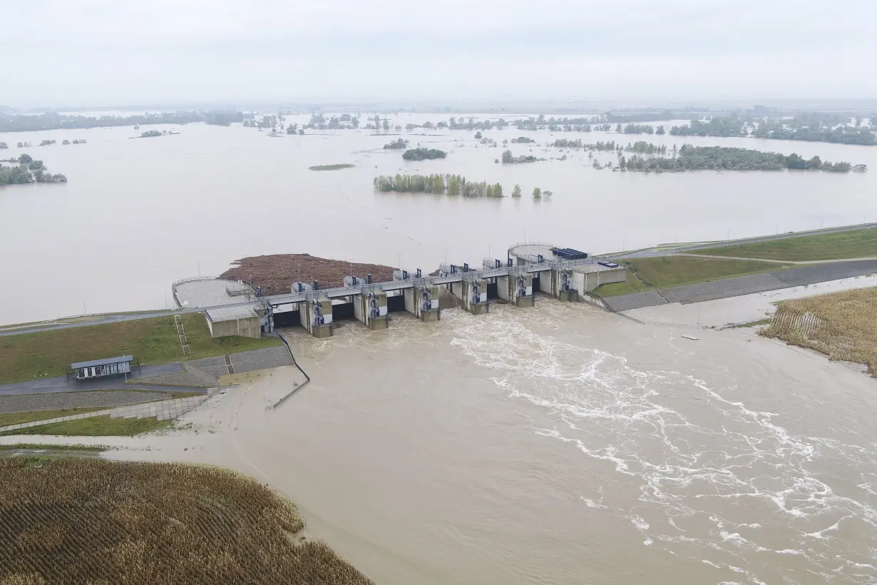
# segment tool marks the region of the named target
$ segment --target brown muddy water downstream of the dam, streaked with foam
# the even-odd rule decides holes
[[[294,368],[241,375],[110,456],[251,474],[378,583],[877,581],[877,382],[681,333],[541,297],[297,330],[312,382],[281,407]]]

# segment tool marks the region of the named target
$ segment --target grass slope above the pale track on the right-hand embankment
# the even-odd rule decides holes
[[[764,260],[842,260],[877,256],[877,228],[707,248],[693,253]]]

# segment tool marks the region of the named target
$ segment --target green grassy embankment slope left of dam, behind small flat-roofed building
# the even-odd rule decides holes
[[[65,375],[75,361],[130,354],[141,365],[245,352],[277,346],[280,339],[211,339],[201,313],[180,316],[190,355],[182,354],[174,317],[152,317],[103,325],[0,337],[0,384]]]

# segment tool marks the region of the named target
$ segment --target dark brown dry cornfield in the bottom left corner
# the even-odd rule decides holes
[[[0,460],[0,585],[365,584],[282,497],[175,463]]]

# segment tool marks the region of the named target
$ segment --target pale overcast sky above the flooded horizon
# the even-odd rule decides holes
[[[0,104],[877,97],[877,0],[0,0]]]

